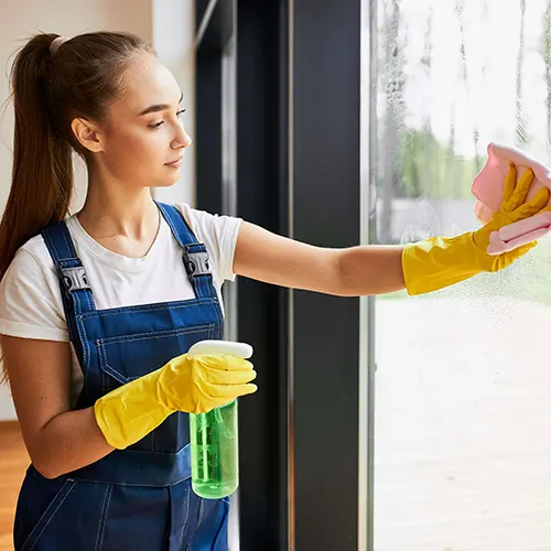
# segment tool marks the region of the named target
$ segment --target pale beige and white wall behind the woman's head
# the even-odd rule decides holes
[[[186,126],[194,130],[193,0],[0,0],[0,105],[9,96],[9,72],[15,50],[36,32],[74,36],[83,32],[129,31],[153,42],[160,57],[174,72],[186,96]],[[13,112],[11,104],[0,110],[0,208],[8,198],[11,175]],[[75,206],[85,194],[86,171],[78,168]],[[194,202],[195,160],[186,155],[182,180],[173,188],[155,194],[161,201]],[[13,419],[6,386],[0,387],[0,420]]]

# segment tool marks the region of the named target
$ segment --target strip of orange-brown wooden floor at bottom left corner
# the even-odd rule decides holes
[[[29,456],[17,423],[0,422],[0,551],[13,551],[13,514]]]

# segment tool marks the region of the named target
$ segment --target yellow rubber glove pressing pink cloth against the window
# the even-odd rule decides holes
[[[456,237],[433,237],[406,246],[402,270],[409,294],[422,294],[464,281],[480,272],[496,272],[512,263],[536,246],[536,241],[503,255],[486,252],[489,236],[504,226],[540,213],[549,201],[549,190],[540,190],[528,203],[526,197],[533,173],[526,171],[517,182],[511,163],[505,180],[504,199],[491,220],[476,231]]]

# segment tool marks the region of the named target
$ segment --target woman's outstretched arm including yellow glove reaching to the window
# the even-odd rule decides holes
[[[488,252],[501,228],[551,210],[545,208],[550,196],[547,187],[528,199],[532,182],[531,170],[517,181],[511,163],[501,206],[488,224],[460,236],[432,237],[404,247],[323,249],[244,223],[237,238],[234,271],[277,285],[341,296],[382,294],[406,288],[409,294],[430,293],[482,272],[499,271],[536,246],[532,241],[499,255]]]

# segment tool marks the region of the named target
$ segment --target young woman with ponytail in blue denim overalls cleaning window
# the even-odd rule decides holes
[[[162,205],[191,139],[182,94],[134,35],[34,36],[12,71],[12,187],[0,225],[4,369],[32,465],[15,550],[227,549],[228,500],[190,485],[187,413],[253,392],[255,370],[186,355],[223,337],[235,274],[336,295],[430,292],[497,271],[533,244],[487,255],[493,231],[540,212],[508,174],[483,228],[403,247],[323,249],[240,219]],[[68,215],[72,151],[86,161]],[[71,344],[69,344],[71,343]]]

